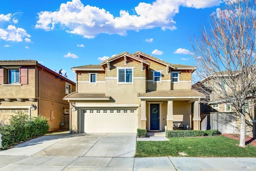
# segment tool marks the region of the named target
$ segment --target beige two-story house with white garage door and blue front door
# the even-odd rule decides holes
[[[123,52],[100,65],[72,70],[76,92],[64,97],[70,102],[72,132],[164,131],[165,125],[173,129],[173,121],[200,129],[198,99],[204,95],[191,89],[193,66],[170,64],[142,52]]]

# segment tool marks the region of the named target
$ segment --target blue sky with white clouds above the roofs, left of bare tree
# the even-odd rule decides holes
[[[0,60],[37,60],[51,70],[99,64],[145,52],[192,65],[190,36],[221,0],[5,0],[0,2]]]

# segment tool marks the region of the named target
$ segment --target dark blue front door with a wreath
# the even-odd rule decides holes
[[[150,130],[159,130],[159,104],[150,104]]]

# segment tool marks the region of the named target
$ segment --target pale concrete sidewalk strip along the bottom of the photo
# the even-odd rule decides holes
[[[256,171],[255,158],[0,155],[0,171]]]

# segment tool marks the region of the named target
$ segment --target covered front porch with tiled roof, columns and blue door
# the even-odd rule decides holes
[[[141,100],[141,128],[147,131],[200,129],[200,98],[195,90],[150,91],[138,93]],[[194,105],[193,115],[191,112]]]

